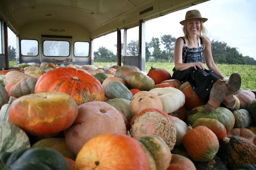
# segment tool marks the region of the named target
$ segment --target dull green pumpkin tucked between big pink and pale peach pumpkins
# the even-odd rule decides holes
[[[129,122],[131,121],[131,119],[133,118],[133,114],[132,114],[132,108],[130,105],[131,103],[130,100],[115,98],[115,99],[109,99],[106,102],[111,106],[113,106],[114,108],[116,108],[117,110],[119,110],[120,112],[122,112],[124,116],[127,118],[127,120],[129,120]]]

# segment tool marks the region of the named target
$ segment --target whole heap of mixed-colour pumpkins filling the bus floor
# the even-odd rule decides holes
[[[0,169],[250,169],[256,99],[205,113],[161,68],[21,63],[0,71]]]

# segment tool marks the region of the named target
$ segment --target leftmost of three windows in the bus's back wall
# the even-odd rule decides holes
[[[37,56],[38,41],[35,39],[21,39],[20,51],[22,56]]]

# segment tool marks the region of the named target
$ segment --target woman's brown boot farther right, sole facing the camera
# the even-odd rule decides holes
[[[241,77],[238,73],[233,73],[230,75],[227,87],[228,92],[223,104],[225,104],[227,107],[233,107],[236,102],[233,95],[241,88]]]

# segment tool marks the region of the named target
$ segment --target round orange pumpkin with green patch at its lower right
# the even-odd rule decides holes
[[[219,141],[209,128],[199,125],[183,136],[183,146],[193,160],[207,162],[218,152]]]

